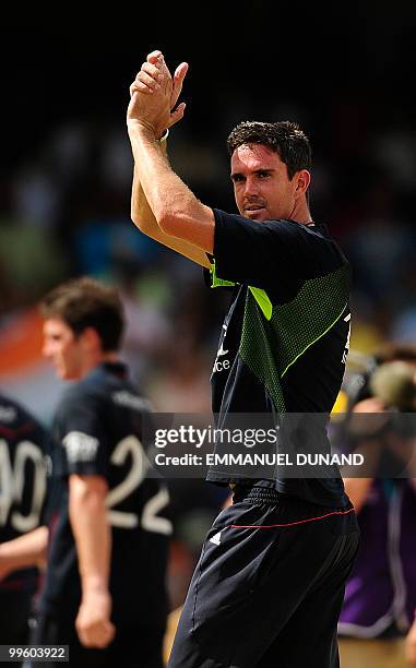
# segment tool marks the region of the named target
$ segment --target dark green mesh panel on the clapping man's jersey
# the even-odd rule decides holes
[[[247,291],[239,355],[266,387],[278,411],[285,410],[281,379],[301,355],[337,322],[348,302],[349,266],[306,281],[288,303],[264,318]]]

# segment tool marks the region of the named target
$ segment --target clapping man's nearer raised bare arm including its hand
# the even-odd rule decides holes
[[[173,171],[157,142],[161,128],[169,126],[173,91],[171,77],[162,55],[157,67],[159,87],[152,95],[133,92],[128,109],[127,122],[136,177],[162,231],[212,253],[213,211],[199,202]]]

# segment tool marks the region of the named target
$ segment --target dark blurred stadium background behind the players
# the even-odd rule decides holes
[[[415,343],[415,5],[278,2],[108,10],[4,20],[0,386],[45,422],[61,392],[40,358],[36,302],[71,276],[120,287],[123,355],[156,409],[209,411],[226,300],[192,263],[130,222],[128,86],[145,55],[190,63],[171,163],[203,202],[235,211],[225,140],[242,119],[297,120],[310,135],[312,215],[354,266],[352,347]],[[177,484],[174,603],[222,498]]]

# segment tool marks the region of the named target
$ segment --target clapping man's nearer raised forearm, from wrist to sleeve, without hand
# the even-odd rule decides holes
[[[212,210],[199,202],[173,171],[166,153],[152,132],[139,123],[133,123],[129,126],[129,136],[135,162],[135,182],[141,184],[157,225],[165,234],[212,252]],[[136,189],[134,206],[140,203],[143,205],[140,189]]]

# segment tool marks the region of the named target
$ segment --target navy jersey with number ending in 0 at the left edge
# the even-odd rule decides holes
[[[20,404],[0,395],[0,542],[37,528],[47,487],[48,437]],[[37,572],[25,569],[0,589],[33,587]]]

